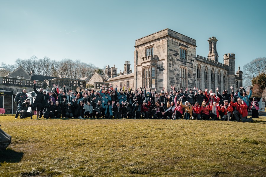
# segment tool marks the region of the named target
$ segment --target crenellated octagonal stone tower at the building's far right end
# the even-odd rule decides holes
[[[223,55],[223,63],[228,66],[228,71],[227,71],[227,83],[226,83],[226,88],[227,90],[236,84],[236,74],[235,74],[235,54],[233,53],[228,53]]]

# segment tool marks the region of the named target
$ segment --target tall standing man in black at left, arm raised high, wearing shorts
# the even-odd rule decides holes
[[[32,114],[34,114],[34,111],[36,110],[36,115],[37,119],[39,118],[40,115],[40,110],[42,109],[42,103],[43,103],[43,88],[40,88],[40,91],[36,89],[36,81],[33,81],[33,90],[35,92],[35,99],[33,102],[33,109],[32,109]],[[32,118],[32,117],[31,117]]]

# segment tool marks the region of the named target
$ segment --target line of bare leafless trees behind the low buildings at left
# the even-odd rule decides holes
[[[52,60],[49,57],[38,58],[35,55],[29,59],[16,59],[14,64],[0,65],[0,76],[6,76],[9,72],[14,71],[19,66],[22,66],[27,73],[33,71],[36,75],[52,76],[79,79],[82,77],[91,77],[93,73],[98,72],[104,74],[104,70],[96,67],[93,63],[80,62],[80,60],[72,60],[69,58],[61,59],[60,61]]]

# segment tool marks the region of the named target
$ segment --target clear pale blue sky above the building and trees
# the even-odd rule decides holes
[[[207,57],[217,37],[219,62],[236,66],[266,57],[265,1],[1,1],[0,59],[13,64],[32,55],[70,58],[124,69],[134,62],[135,40],[162,29],[196,39]],[[131,65],[132,66],[132,65]],[[134,67],[132,66],[132,69]],[[236,67],[237,68],[237,67]]]

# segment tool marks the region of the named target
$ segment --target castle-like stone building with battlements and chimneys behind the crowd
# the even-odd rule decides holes
[[[126,62],[120,77],[117,76],[117,68],[106,66],[108,79],[98,82],[114,85],[132,83],[130,87],[134,89],[147,86],[151,90],[163,87],[170,90],[170,86],[175,85],[177,89],[196,86],[216,91],[215,88],[219,87],[230,92],[231,86],[234,89],[242,86],[243,72],[238,68],[235,73],[236,58],[233,53],[224,54],[223,63],[219,62],[217,41],[216,37],[207,40],[209,53],[207,57],[202,57],[196,54],[195,39],[164,29],[135,41],[134,72],[129,71],[129,62]]]

